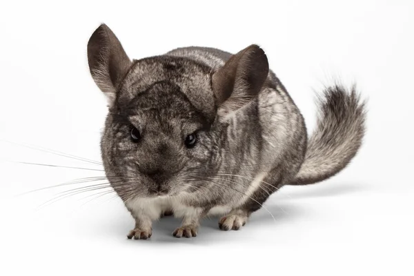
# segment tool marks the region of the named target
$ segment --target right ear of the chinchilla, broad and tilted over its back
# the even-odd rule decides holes
[[[212,76],[217,106],[228,111],[244,106],[259,94],[268,72],[266,54],[257,45],[233,55]]]

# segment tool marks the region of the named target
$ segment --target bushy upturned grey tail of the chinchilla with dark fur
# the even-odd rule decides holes
[[[318,97],[319,116],[308,140],[305,161],[289,185],[307,185],[333,177],[344,169],[362,144],[365,101],[355,91],[335,85]]]

